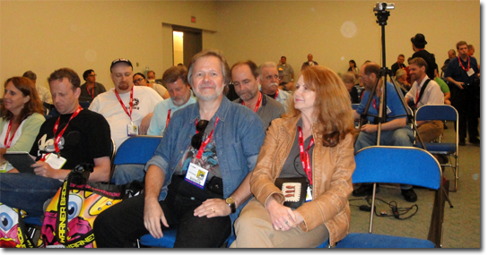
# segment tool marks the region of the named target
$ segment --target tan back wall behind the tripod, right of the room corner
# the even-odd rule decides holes
[[[366,60],[380,64],[381,27],[372,11],[375,0],[218,2],[221,26],[217,39],[230,63],[248,58],[258,64],[278,62],[286,55],[297,75],[309,53],[318,64],[336,72],[346,72],[351,59],[358,65]],[[414,54],[410,38],[416,33],[425,35],[426,49],[436,55],[440,66],[461,39],[478,48],[475,57],[479,59],[479,0],[391,2],[396,9],[386,26],[388,67],[397,55],[408,58]]]

